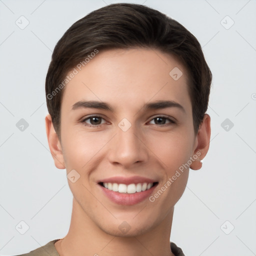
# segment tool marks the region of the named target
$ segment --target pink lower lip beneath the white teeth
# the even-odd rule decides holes
[[[98,184],[99,185],[99,184]],[[105,188],[104,186],[99,185],[103,193],[113,202],[122,205],[133,205],[139,203],[150,196],[154,188],[157,186],[154,185],[149,189],[141,192],[135,193],[119,193]]]

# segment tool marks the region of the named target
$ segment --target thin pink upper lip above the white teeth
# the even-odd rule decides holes
[[[123,176],[114,176],[114,177],[109,177],[105,179],[98,180],[97,183],[117,183],[117,184],[132,184],[132,183],[154,183],[158,182],[158,180],[153,180],[151,178],[147,177],[142,177],[142,176],[131,176],[131,177],[123,177]]]

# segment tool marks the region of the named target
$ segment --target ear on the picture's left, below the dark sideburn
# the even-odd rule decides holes
[[[58,139],[57,133],[55,132],[55,129],[53,127],[50,114],[47,114],[45,116],[45,128],[46,128],[46,134],[47,134],[48,144],[50,148],[50,153],[54,160],[55,166],[58,169],[64,169],[65,162],[64,162],[61,144]]]

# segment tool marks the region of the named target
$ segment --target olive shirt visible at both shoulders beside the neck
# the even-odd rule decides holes
[[[20,255],[15,255],[15,256],[59,256],[54,243],[58,241],[59,239],[55,239],[52,241],[49,241],[45,245],[31,250],[28,253],[20,254]],[[172,253],[175,256],[185,256],[184,253],[182,252],[181,248],[179,248],[174,242],[170,242],[170,248]]]

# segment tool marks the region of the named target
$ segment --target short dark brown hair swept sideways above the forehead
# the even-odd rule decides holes
[[[45,80],[46,103],[60,139],[60,106],[67,73],[91,52],[149,47],[176,56],[188,71],[193,127],[197,133],[207,110],[211,71],[198,40],[183,25],[148,6],[114,3],[73,23],[56,43]],[[59,91],[56,91],[58,85]],[[54,92],[55,93],[52,93]]]

